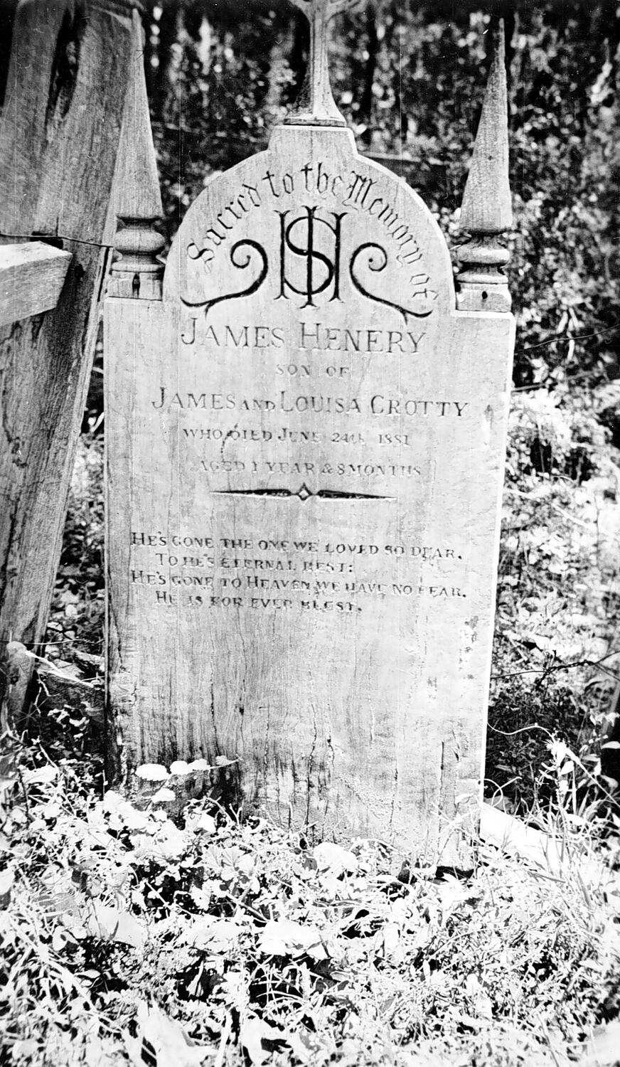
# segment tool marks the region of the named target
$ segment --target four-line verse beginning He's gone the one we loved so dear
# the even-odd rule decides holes
[[[462,555],[447,545],[169,537],[134,530],[131,551],[132,586],[146,590],[153,603],[164,607],[351,615],[371,609],[377,598],[420,598],[446,604],[466,598]],[[384,575],[377,576],[373,566],[372,577],[364,577],[360,570],[364,560],[373,564],[379,560]],[[398,580],[395,560],[404,572],[398,573]]]

